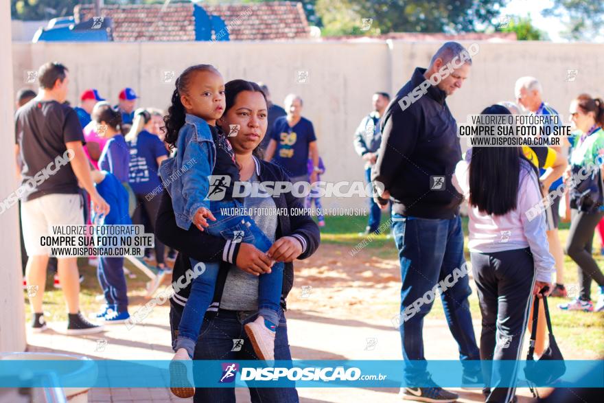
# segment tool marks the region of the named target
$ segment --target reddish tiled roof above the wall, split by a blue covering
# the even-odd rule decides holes
[[[105,5],[101,16],[113,20],[114,41],[195,41],[192,3]],[[231,41],[308,38],[310,28],[301,3],[202,5],[229,27]],[[79,21],[95,16],[93,5],[76,5]],[[218,33],[217,33],[218,34]]]

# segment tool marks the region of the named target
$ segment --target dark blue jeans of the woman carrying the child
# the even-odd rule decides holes
[[[181,322],[183,306],[170,300],[170,330],[172,345],[176,340],[178,324]],[[198,343],[195,346],[194,360],[257,360],[244,325],[255,320],[257,312],[220,310],[218,315],[207,314],[203,320]],[[242,338],[243,347],[239,352],[231,352],[233,339]],[[275,336],[275,360],[291,360],[288,341],[288,324],[283,310],[279,310],[279,327]],[[218,383],[218,380],[216,380]],[[201,383],[201,382],[200,382]],[[297,403],[298,392],[295,388],[250,388],[253,403]],[[196,388],[194,402],[198,403],[235,403],[233,388]]]

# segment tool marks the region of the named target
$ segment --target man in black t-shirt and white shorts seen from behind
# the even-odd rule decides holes
[[[20,198],[23,238],[27,250],[26,277],[33,312],[32,327],[46,329],[42,313],[49,248],[41,238],[52,235],[54,225],[83,225],[84,215],[78,182],[90,194],[95,211],[108,214],[109,205],[91,179],[82,145],[84,136],[78,115],[65,105],[69,78],[67,68],[48,62],[38,71],[39,95],[15,115],[15,150],[22,161]],[[9,205],[10,203],[9,196]],[[16,201],[16,200],[15,200]],[[59,257],[58,274],[69,310],[67,334],[91,334],[102,326],[86,321],[80,313],[80,282],[76,257]]]

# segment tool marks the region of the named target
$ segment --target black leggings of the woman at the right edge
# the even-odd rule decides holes
[[[592,279],[599,286],[604,286],[604,274],[592,256],[592,240],[598,222],[604,216],[604,211],[585,213],[572,209],[570,215],[570,231],[566,240],[566,254],[579,265],[580,298],[589,301],[590,284]]]

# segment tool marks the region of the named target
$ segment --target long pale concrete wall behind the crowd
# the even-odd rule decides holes
[[[325,181],[362,179],[362,162],[352,146],[353,132],[371,109],[374,91],[394,95],[416,66],[426,67],[440,42],[371,43],[311,41],[291,43],[14,43],[14,87],[24,87],[24,71],[48,60],[60,60],[72,73],[70,100],[90,87],[117,101],[119,89],[130,86],[143,106],[165,108],[174,84],[163,84],[163,71],[211,63],[226,80],[244,78],[268,84],[282,104],[299,93],[303,115],[312,120],[327,166]],[[544,87],[546,101],[568,115],[575,95],[604,95],[604,45],[542,42],[480,43],[465,86],[448,103],[458,121],[500,100],[513,100],[520,76],[533,75]],[[565,81],[568,69],[576,80]],[[297,84],[297,70],[309,71],[309,82]],[[324,200],[325,207],[359,207],[357,198]]]

